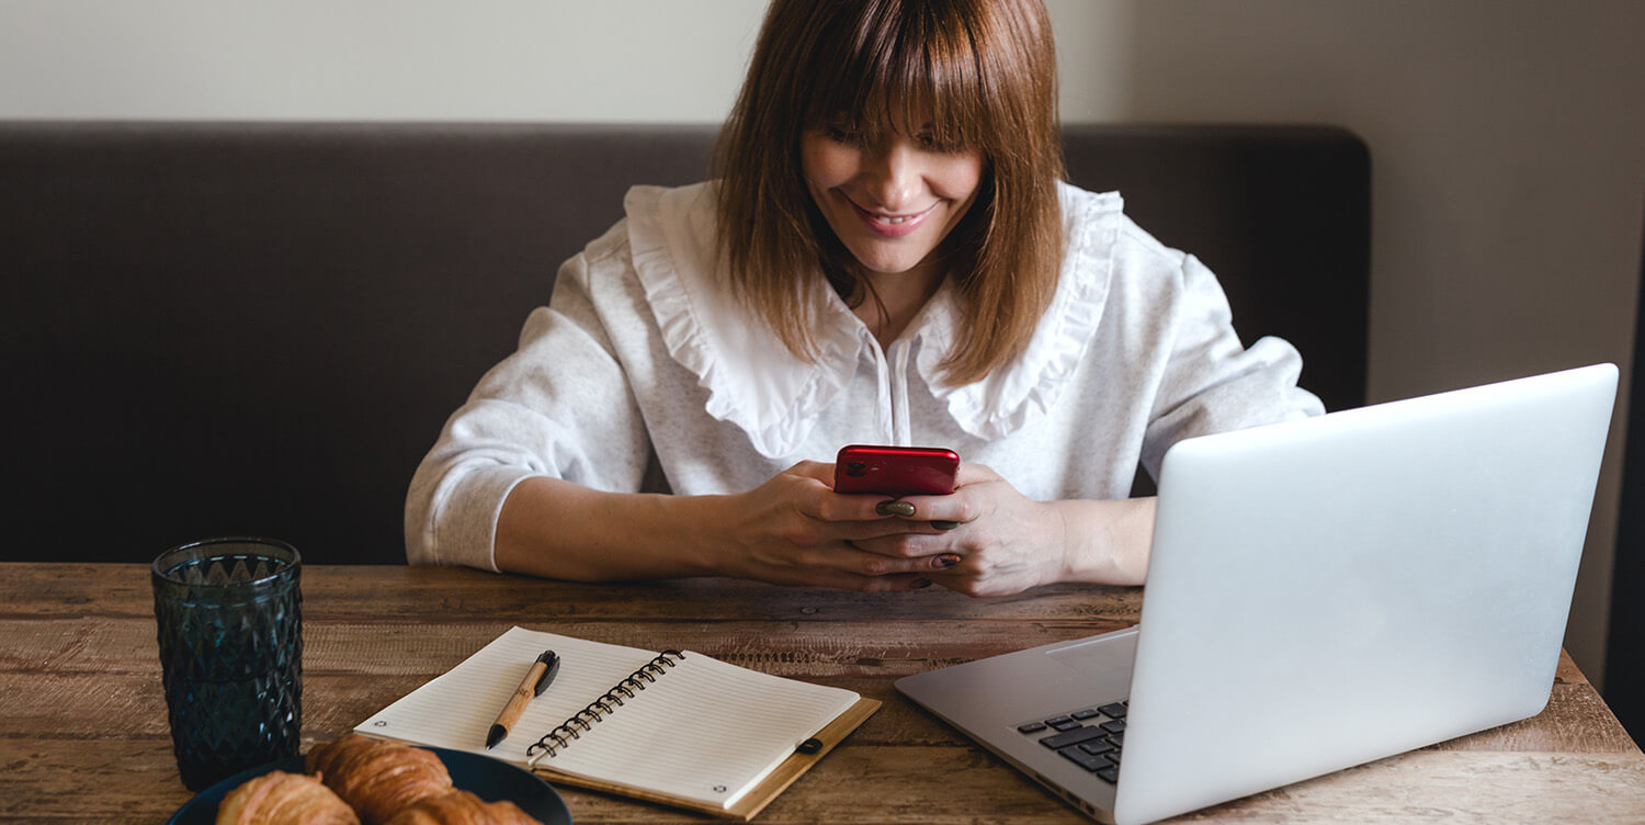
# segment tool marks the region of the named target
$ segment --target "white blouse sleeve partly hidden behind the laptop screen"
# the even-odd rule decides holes
[[[1324,412],[1314,394],[1296,385],[1303,371],[1296,347],[1272,336],[1244,347],[1216,275],[1184,255],[1181,277],[1171,349],[1143,435],[1142,461],[1155,479],[1165,451],[1184,438]]]

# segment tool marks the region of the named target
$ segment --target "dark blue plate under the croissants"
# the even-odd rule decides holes
[[[446,771],[451,772],[451,782],[462,790],[469,790],[487,802],[507,799],[508,802],[520,805],[520,810],[536,817],[543,822],[543,825],[571,825],[571,810],[566,809],[566,802],[559,799],[559,794],[556,794],[548,782],[543,782],[530,771],[508,762],[500,762],[490,756],[470,754],[466,751],[447,751],[444,748],[428,749],[434,751],[441,762],[446,762]],[[229,779],[194,794],[194,799],[178,809],[178,812],[166,820],[166,825],[215,823],[217,804],[222,802],[224,795],[247,779],[258,777],[271,771],[301,774],[303,757],[293,756],[290,759],[268,762],[265,766],[234,774]]]

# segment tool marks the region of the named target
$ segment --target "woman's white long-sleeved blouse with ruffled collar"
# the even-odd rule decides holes
[[[714,270],[709,184],[637,186],[627,217],[566,262],[520,347],[480,379],[406,497],[411,563],[497,570],[503,499],[553,476],[604,491],[742,492],[849,443],[946,446],[1038,501],[1115,499],[1173,443],[1318,415],[1301,357],[1240,346],[1193,255],[1061,186],[1068,250],[1028,347],[984,380],[941,384],[959,333],[944,285],[882,349],[821,272],[795,357]]]

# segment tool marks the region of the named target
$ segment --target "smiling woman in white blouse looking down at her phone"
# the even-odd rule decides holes
[[[1002,594],[1142,583],[1186,436],[1321,412],[1216,278],[1063,178],[1038,0],[776,0],[717,179],[635,188],[406,502],[413,563]],[[831,489],[847,443],[951,496]],[[668,491],[668,492],[653,492]]]

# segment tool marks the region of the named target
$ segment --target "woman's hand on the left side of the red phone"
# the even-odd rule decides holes
[[[776,585],[864,593],[929,586],[926,575],[943,570],[936,557],[897,558],[852,542],[938,530],[875,510],[890,497],[837,494],[832,479],[834,464],[801,461],[748,492],[719,497],[716,524],[704,527],[727,540],[711,566]]]

